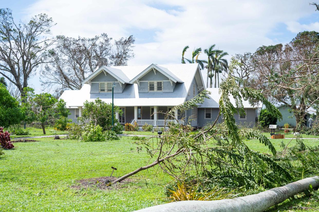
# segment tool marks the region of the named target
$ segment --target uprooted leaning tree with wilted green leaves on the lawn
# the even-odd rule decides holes
[[[232,60],[229,71],[232,72],[237,65],[238,62]],[[213,124],[196,132],[188,132],[182,125],[171,123],[169,131],[160,139],[137,141],[137,144],[145,147],[153,162],[114,180],[113,183],[156,165],[175,179],[193,176],[194,179],[213,179],[219,185],[244,186],[247,189],[262,184],[265,187],[274,187],[291,179],[291,175],[273,157],[250,150],[244,143],[245,137],[258,138],[260,143],[268,146],[273,155],[276,154],[271,142],[259,131],[237,127],[234,114],[238,113],[238,109],[240,113],[244,113],[242,98],[251,103],[263,102],[278,118],[281,114],[259,91],[239,87],[238,80],[241,79],[229,75],[220,84],[219,115]],[[207,93],[208,91],[203,91],[175,109],[188,110],[203,102]],[[234,97],[236,105],[230,102],[230,95]],[[173,117],[174,114],[170,113],[167,116]],[[217,122],[221,115],[224,123],[219,125]],[[214,144],[216,141],[219,145]]]

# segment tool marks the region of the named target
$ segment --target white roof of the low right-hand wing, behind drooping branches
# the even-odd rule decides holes
[[[219,93],[219,88],[206,88],[207,91],[210,91],[211,94],[208,95],[209,99],[205,99],[204,103],[199,107],[203,108],[219,108],[219,99],[221,94]],[[236,107],[235,99],[233,96],[229,96],[230,102]],[[244,108],[258,108],[261,107],[261,104],[258,106],[250,105],[249,101],[242,99],[242,105]]]

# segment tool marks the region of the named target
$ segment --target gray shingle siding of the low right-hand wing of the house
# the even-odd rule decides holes
[[[198,108],[198,127],[204,127],[206,124],[214,122],[219,113],[219,108],[211,108],[212,114],[211,119],[205,119],[205,108]],[[234,114],[234,118],[237,124],[245,125],[247,127],[254,127],[256,122],[256,109],[246,108],[246,119],[239,119],[238,114]],[[223,122],[222,118],[219,116],[218,123]]]

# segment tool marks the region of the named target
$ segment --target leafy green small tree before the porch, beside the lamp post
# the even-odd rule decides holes
[[[114,106],[114,125],[120,125],[115,118],[115,113],[120,115],[123,113],[118,106]],[[100,125],[103,130],[112,129],[112,104],[105,103],[101,99],[97,98],[94,102],[85,101],[84,108],[82,109],[82,116],[78,118],[80,122],[90,120],[94,125]],[[122,133],[121,128],[114,128],[116,133]]]

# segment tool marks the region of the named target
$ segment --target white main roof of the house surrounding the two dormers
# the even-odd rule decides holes
[[[161,64],[156,66],[164,69],[165,72],[169,71],[171,76],[175,76],[178,81],[183,83],[177,83],[173,92],[151,93],[139,93],[137,84],[126,84],[122,93],[114,93],[114,104],[116,106],[176,106],[185,102],[194,76],[199,71],[198,64]],[[148,67],[150,66],[112,66],[110,68],[121,69],[122,73],[131,80]],[[197,83],[201,86],[203,81]],[[89,84],[83,84],[81,90],[64,91],[59,99],[64,99],[67,107],[83,106],[85,100],[94,101],[97,96],[100,96],[100,99],[107,103],[112,102],[111,96],[110,98],[102,97],[102,95],[107,96],[108,94],[90,94],[90,89]],[[91,98],[92,96],[94,98]]]

